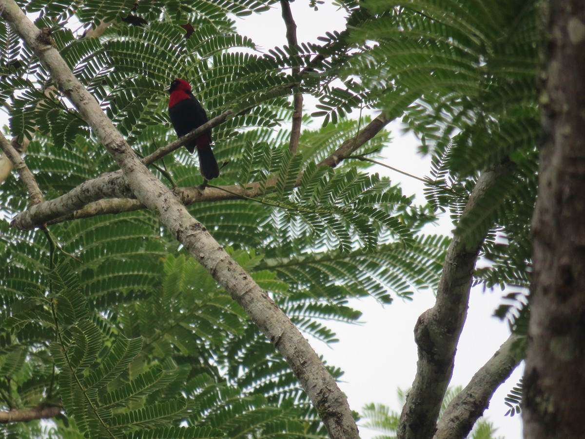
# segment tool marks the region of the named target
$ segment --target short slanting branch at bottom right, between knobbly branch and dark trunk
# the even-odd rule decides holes
[[[495,390],[522,360],[519,344],[523,339],[521,335],[511,334],[494,356],[473,375],[469,384],[449,403],[437,423],[433,439],[467,437],[490,405]]]

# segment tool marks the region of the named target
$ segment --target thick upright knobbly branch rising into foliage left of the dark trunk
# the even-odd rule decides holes
[[[514,170],[511,163],[481,173],[460,221],[485,210],[490,193]],[[398,438],[426,439],[435,434],[443,396],[453,374],[455,351],[467,317],[469,290],[479,250],[490,225],[476,226],[473,236],[455,235],[449,245],[435,306],[418,318],[414,328],[418,346],[417,374],[397,428]]]

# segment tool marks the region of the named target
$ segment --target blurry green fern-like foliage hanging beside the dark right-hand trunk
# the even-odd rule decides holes
[[[362,51],[346,66],[391,117],[432,155],[427,200],[449,210],[456,234],[486,228],[487,287],[526,286],[537,181],[537,2],[417,0],[364,3],[370,16],[350,33]],[[511,171],[460,221],[485,170]]]

